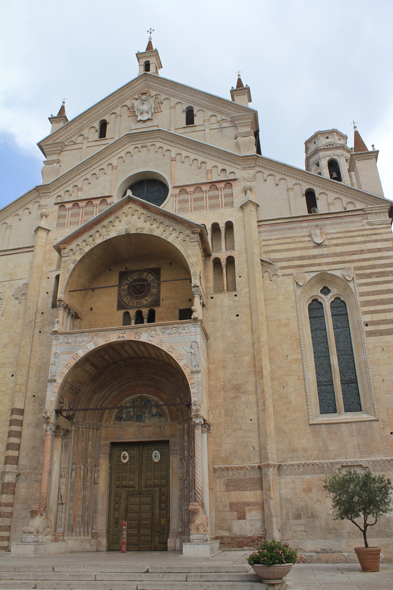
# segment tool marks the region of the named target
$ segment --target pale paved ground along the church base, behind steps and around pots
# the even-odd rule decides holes
[[[97,568],[102,571],[106,567],[110,567],[111,571],[113,568],[119,568],[118,571],[121,572],[125,567],[128,569],[130,566],[146,564],[150,572],[173,572],[179,569],[184,571],[188,567],[193,571],[201,567],[203,571],[244,572],[247,570],[248,554],[249,552],[245,551],[224,551],[208,559],[183,557],[176,552],[140,552],[125,555],[114,552],[68,553],[39,557],[16,557],[2,553],[0,571],[34,571],[36,568],[54,566],[58,572],[70,571],[73,568],[85,571]],[[361,572],[357,563],[296,564],[287,577],[287,583],[288,590],[393,590],[393,564],[381,564],[379,573]]]

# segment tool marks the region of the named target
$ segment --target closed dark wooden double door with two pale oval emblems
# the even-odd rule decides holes
[[[169,443],[111,445],[108,549],[166,551],[169,536]]]

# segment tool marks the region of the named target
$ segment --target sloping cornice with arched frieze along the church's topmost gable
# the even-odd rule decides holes
[[[212,113],[223,118],[230,119],[235,115],[248,114],[256,119],[256,125],[258,126],[258,113],[254,109],[235,103],[230,99],[221,98],[214,94],[198,90],[192,86],[144,72],[80,115],[77,115],[74,119],[71,119],[66,125],[60,127],[60,129],[44,137],[38,143],[38,147],[46,156],[45,150],[50,145],[54,143],[66,143],[72,140],[87,127],[109,116],[114,109],[144,90],[150,90],[152,93],[157,94],[166,93],[178,100],[184,101],[186,99],[193,106],[210,110]]]

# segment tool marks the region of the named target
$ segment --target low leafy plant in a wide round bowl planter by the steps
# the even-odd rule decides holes
[[[262,540],[258,549],[251,553],[247,561],[254,572],[262,578],[262,582],[272,583],[286,576],[296,563],[297,552],[280,541]]]

